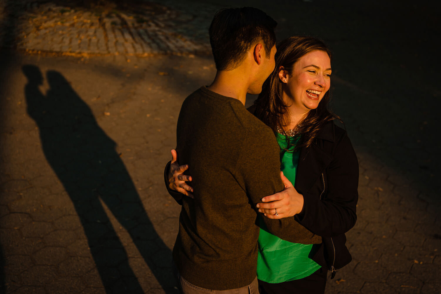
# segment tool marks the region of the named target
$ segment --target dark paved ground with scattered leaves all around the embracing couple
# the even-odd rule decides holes
[[[144,4],[162,11],[146,23],[116,11],[122,18],[112,24],[102,12],[104,28],[89,35],[76,23],[90,29],[98,16],[80,7],[0,3],[1,293],[178,293],[170,252],[179,206],[162,168],[183,98],[215,74],[206,54],[211,14],[251,3],[176,2]],[[263,2],[253,5],[277,19],[279,38],[308,33],[333,47],[334,108],[359,157],[358,221],[347,234],[353,261],[326,293],[440,293],[439,7]],[[57,18],[65,23],[48,25]],[[138,35],[126,39],[121,19]],[[118,54],[109,38],[105,52],[93,41],[109,22]],[[69,31],[61,42],[87,38],[87,50],[65,50],[56,26]],[[150,38],[136,41],[141,31]],[[32,45],[37,33],[38,46],[58,47]],[[158,37],[179,34],[191,49]],[[157,51],[146,51],[149,41]]]

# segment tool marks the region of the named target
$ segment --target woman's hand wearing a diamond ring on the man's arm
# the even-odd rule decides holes
[[[283,191],[262,198],[264,203],[258,203],[256,206],[259,212],[269,219],[281,219],[294,216],[303,209],[303,195],[295,190],[292,183],[280,171],[280,178],[285,186]],[[277,213],[277,215],[276,215]]]

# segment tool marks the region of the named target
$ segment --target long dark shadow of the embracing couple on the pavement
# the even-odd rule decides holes
[[[171,251],[161,240],[142,205],[116,143],[98,126],[89,106],[57,71],[47,71],[50,89],[34,65],[22,67],[27,84],[27,112],[40,130],[43,152],[73,202],[106,293],[144,293],[120,238],[101,201],[130,234],[153,275],[167,293],[177,293],[170,264],[153,255]],[[168,255],[168,256],[165,256]]]

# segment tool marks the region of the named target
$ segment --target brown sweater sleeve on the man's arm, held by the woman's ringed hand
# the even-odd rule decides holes
[[[258,133],[249,135],[243,144],[236,164],[236,179],[246,191],[254,210],[260,214],[256,204],[262,202],[263,197],[283,190],[284,185],[280,179],[280,148],[276,138],[269,128]],[[289,242],[297,240],[292,234],[298,227],[294,216],[280,220],[262,219],[271,234]]]

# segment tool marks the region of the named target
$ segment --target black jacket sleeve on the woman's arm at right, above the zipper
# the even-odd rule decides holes
[[[346,133],[325,173],[327,193],[321,199],[320,195],[303,194],[303,209],[295,219],[314,234],[333,237],[349,231],[357,220],[359,167]]]

